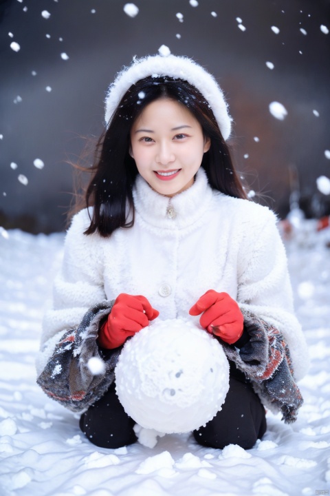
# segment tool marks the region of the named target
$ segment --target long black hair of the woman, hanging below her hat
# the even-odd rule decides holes
[[[164,97],[183,103],[199,121],[204,136],[210,138],[210,149],[201,162],[210,186],[235,198],[247,198],[228,145],[201,93],[181,79],[148,76],[127,90],[96,145],[94,165],[89,169],[94,175],[85,195],[87,207],[94,208],[85,234],[98,231],[107,237],[118,227],[133,226],[137,167],[129,155],[131,127],[146,105]]]

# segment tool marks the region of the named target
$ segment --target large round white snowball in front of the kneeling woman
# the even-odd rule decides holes
[[[126,342],[115,381],[122,406],[137,424],[184,433],[221,410],[229,364],[221,344],[194,323],[155,320]]]

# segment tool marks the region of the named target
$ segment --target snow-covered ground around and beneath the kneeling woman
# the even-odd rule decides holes
[[[305,403],[292,426],[267,413],[253,449],[198,446],[167,435],[155,448],[106,450],[90,444],[74,414],[36,385],[41,317],[50,305],[63,235],[0,228],[1,496],[316,495],[330,490],[330,240],[303,223],[287,242],[296,310],[311,367]],[[323,491],[323,492],[322,492]]]

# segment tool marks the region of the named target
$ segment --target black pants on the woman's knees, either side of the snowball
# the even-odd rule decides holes
[[[102,448],[120,448],[137,440],[133,431],[135,422],[120,404],[114,382],[81,415],[79,425],[88,440]],[[265,409],[259,397],[248,382],[230,375],[230,388],[221,411],[193,435],[203,446],[222,449],[228,444],[238,444],[248,449],[265,431]]]

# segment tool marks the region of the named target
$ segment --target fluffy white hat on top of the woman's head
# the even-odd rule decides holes
[[[109,86],[105,99],[105,121],[108,125],[113,113],[118,107],[122,96],[131,85],[148,76],[170,76],[184,79],[208,101],[214,117],[217,119],[219,129],[225,140],[230,136],[232,118],[228,113],[223,91],[214,77],[186,56],[176,55],[150,55],[142,59],[133,59],[129,67],[118,72],[115,81]]]

